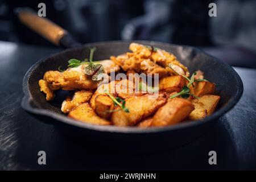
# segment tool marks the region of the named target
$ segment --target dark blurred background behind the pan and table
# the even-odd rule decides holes
[[[231,65],[256,68],[255,0],[0,0],[0,40],[53,47],[14,14],[16,7],[38,11],[41,2],[46,18],[81,43],[139,39],[186,44]],[[212,2],[216,17],[208,15]]]

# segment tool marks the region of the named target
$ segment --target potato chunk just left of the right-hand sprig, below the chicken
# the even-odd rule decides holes
[[[169,76],[160,79],[159,90],[163,92],[180,92],[181,88],[186,85],[186,80],[184,77]]]

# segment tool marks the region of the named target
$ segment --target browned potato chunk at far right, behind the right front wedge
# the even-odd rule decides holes
[[[215,84],[209,81],[199,81],[194,82],[194,86],[190,86],[190,92],[195,96],[204,96],[207,94],[214,94],[215,92]]]

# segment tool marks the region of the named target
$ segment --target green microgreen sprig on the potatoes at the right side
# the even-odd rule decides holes
[[[181,91],[180,91],[179,93],[176,93],[176,94],[170,96],[170,98],[175,98],[175,97],[177,97],[177,96],[181,96],[181,97],[183,97],[183,98],[188,98],[189,95],[191,95],[191,96],[193,96],[193,97],[195,97],[195,98],[199,98],[199,97],[195,96],[194,94],[189,93],[189,91],[190,91],[189,87],[190,87],[191,85],[194,86],[194,85],[193,85],[194,82],[207,81],[207,80],[205,80],[205,79],[196,79],[196,80],[195,80],[195,75],[196,75],[196,72],[192,74],[192,76],[191,76],[190,79],[189,79],[188,77],[184,76],[184,75],[181,75],[181,76],[183,76],[185,79],[188,80],[188,84],[187,84],[186,86],[183,86],[183,88],[181,89]]]

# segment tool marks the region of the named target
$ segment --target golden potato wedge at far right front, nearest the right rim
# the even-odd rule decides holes
[[[198,99],[192,100],[192,104],[195,106],[188,118],[191,120],[203,119],[212,114],[220,101],[220,96],[216,95],[204,95]]]

